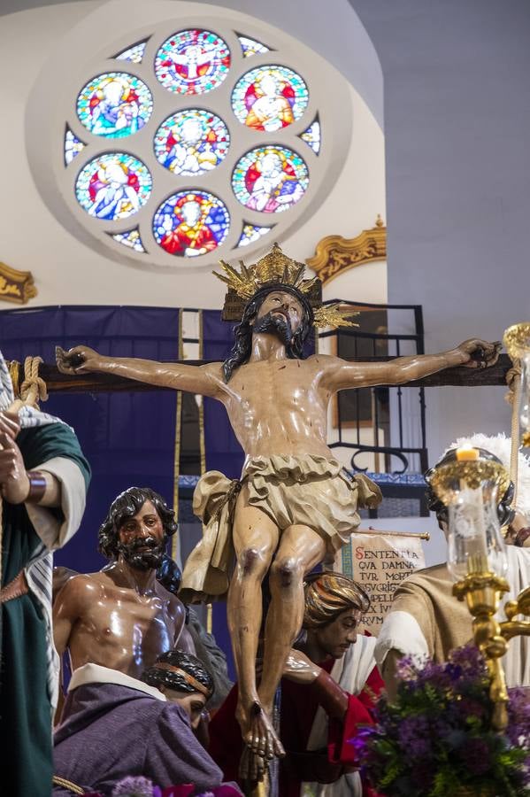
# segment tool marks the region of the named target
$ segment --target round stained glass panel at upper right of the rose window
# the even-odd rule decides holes
[[[300,119],[309,102],[303,78],[287,66],[257,66],[235,84],[232,108],[247,128],[287,128]]]

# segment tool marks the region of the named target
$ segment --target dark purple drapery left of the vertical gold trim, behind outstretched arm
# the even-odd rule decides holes
[[[60,306],[0,312],[6,360],[31,354],[55,361],[55,346],[87,344],[103,354],[179,359],[179,310],[163,307]],[[81,572],[104,565],[97,530],[119,492],[149,486],[173,504],[176,393],[52,393],[42,409],[69,423],[92,468],[81,529],[55,556]]]

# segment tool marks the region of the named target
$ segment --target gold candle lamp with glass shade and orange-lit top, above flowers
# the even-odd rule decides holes
[[[492,726],[503,731],[508,725],[508,691],[502,657],[512,637],[530,636],[530,622],[516,620],[530,615],[530,587],[516,600],[506,603],[506,620],[495,614],[501,596],[510,587],[505,576],[508,557],[496,507],[510,485],[503,464],[481,449],[463,446],[456,459],[435,468],[428,481],[448,507],[448,570],[456,582],[453,594],[465,600],[472,615],[475,645],[488,664],[493,702]]]

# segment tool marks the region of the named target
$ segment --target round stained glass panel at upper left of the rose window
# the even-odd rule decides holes
[[[153,98],[145,83],[132,74],[98,74],[81,89],[77,115],[94,135],[124,138],[149,120]]]

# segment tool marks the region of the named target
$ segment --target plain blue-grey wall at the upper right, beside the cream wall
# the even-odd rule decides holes
[[[388,301],[423,306],[427,352],[499,339],[530,314],[530,5],[351,5],[383,70]],[[431,458],[459,435],[509,433],[503,392],[427,390]]]

